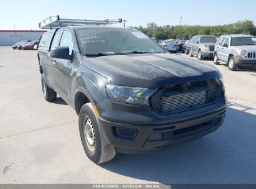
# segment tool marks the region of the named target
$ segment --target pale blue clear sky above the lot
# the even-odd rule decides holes
[[[219,25],[249,19],[256,24],[256,1],[196,1],[196,0],[13,0],[1,2],[0,29],[39,29],[38,22],[59,14],[67,19],[105,19],[121,17],[127,26],[183,24]],[[121,26],[121,24],[119,24]]]

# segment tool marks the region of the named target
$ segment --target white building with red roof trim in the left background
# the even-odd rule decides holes
[[[14,45],[21,40],[38,40],[46,30],[0,30],[0,46]]]

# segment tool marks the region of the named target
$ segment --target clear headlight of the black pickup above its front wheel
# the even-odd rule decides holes
[[[130,104],[148,104],[148,98],[153,94],[154,90],[148,88],[128,87],[128,86],[117,86],[108,84],[106,86],[108,96],[115,100],[123,103]]]

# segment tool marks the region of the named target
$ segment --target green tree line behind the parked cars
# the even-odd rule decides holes
[[[191,39],[194,35],[216,35],[222,34],[250,34],[256,35],[256,27],[253,21],[238,21],[225,25],[163,25],[158,26],[155,22],[150,22],[146,27],[131,27],[138,29],[149,37],[156,39]]]

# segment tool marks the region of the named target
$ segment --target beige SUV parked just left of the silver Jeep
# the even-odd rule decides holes
[[[214,35],[196,35],[192,37],[189,42],[190,57],[196,55],[199,60],[203,60],[204,57],[212,58],[216,41]]]

